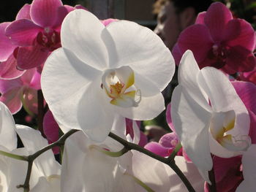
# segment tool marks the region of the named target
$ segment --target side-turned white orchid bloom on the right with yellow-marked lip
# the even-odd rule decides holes
[[[250,145],[250,120],[230,80],[218,69],[199,69],[187,50],[178,69],[179,85],[173,92],[171,116],[181,145],[208,180],[211,153],[229,158]]]

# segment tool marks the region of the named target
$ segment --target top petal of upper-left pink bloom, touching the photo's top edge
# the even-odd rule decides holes
[[[50,27],[56,23],[60,0],[34,0],[31,4],[31,20],[42,27]]]

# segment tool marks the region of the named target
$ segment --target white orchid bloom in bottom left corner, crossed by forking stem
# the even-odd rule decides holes
[[[16,125],[11,112],[0,102],[0,150],[16,155],[31,155],[48,145],[39,131],[27,126]],[[17,148],[17,134],[24,147]],[[23,191],[28,163],[0,154],[0,191]],[[48,150],[34,160],[29,182],[30,191],[60,191],[61,166],[53,152]]]

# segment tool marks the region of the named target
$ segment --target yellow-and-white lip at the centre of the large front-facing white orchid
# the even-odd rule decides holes
[[[102,88],[111,98],[110,104],[118,107],[138,107],[141,94],[134,84],[135,74],[129,66],[108,69],[102,75]]]

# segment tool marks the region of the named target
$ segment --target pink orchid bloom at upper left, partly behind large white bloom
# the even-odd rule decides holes
[[[18,47],[14,55],[19,69],[41,66],[53,50],[61,47],[61,23],[73,9],[61,0],[34,0],[20,10],[18,19],[5,31]]]

